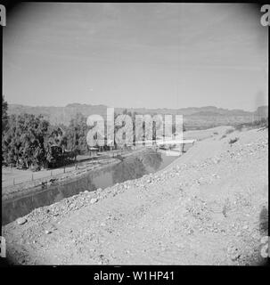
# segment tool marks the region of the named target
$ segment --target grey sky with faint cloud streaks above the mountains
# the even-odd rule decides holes
[[[3,28],[4,95],[33,106],[255,110],[268,103],[260,16],[250,4],[24,4]]]

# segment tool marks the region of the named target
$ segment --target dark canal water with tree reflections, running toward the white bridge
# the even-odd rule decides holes
[[[80,191],[94,191],[116,183],[140,178],[167,167],[176,157],[166,156],[151,149],[135,154],[118,164],[90,171],[88,174],[58,183],[43,191],[37,191],[17,199],[3,201],[2,224],[8,224],[33,209],[48,206]]]

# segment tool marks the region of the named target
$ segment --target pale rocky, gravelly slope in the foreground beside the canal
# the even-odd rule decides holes
[[[37,208],[3,227],[8,260],[259,265],[268,223],[267,132],[219,128],[156,174]]]

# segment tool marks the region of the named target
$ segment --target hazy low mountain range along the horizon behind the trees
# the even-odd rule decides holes
[[[122,113],[126,108],[115,108],[115,113]],[[230,125],[240,122],[248,122],[253,119],[268,117],[268,106],[258,107],[255,111],[245,110],[228,110],[217,108],[215,106],[190,107],[182,109],[146,109],[146,108],[127,108],[127,111],[137,112],[138,114],[182,114],[184,115],[184,124],[189,128],[205,128],[211,126]],[[105,105],[87,105],[73,103],[65,107],[44,107],[44,106],[25,106],[19,104],[9,104],[9,114],[29,113],[42,114],[52,124],[69,125],[70,119],[74,118],[77,113],[88,117],[93,114],[102,115],[106,118],[107,106]]]

